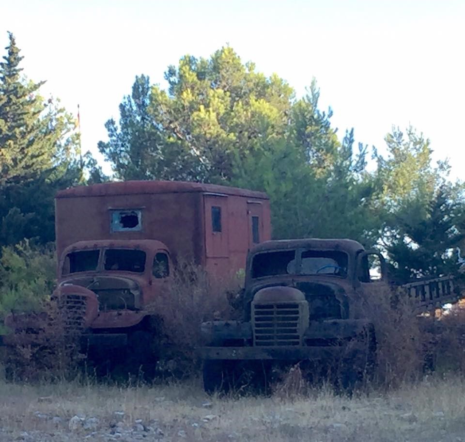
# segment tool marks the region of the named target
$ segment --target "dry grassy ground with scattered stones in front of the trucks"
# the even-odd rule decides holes
[[[292,400],[207,397],[196,380],[157,387],[0,382],[0,438],[8,434],[8,440],[27,431],[36,441],[85,436],[110,441],[116,439],[112,428],[117,421],[122,422],[117,428],[131,428],[141,419],[148,428],[144,440],[457,442],[463,440],[464,412],[465,379],[455,377],[352,399],[322,388]],[[67,424],[74,415],[98,418],[99,428],[70,432]],[[54,424],[54,416],[60,424]],[[119,440],[137,439],[133,433],[125,439],[122,433]]]

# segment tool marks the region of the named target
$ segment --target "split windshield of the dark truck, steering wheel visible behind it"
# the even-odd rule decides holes
[[[347,276],[347,254],[339,251],[306,250],[297,267],[295,250],[257,253],[252,260],[252,278],[273,275],[336,275]]]

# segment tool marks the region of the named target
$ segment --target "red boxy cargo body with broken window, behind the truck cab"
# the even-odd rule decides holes
[[[77,187],[56,196],[57,253],[78,241],[154,239],[171,258],[217,276],[244,268],[248,249],[270,238],[262,192],[176,181]]]

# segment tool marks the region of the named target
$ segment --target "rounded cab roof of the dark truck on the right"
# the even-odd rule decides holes
[[[353,239],[319,239],[319,238],[303,238],[303,239],[277,239],[264,241],[256,245],[251,252],[265,252],[274,249],[316,249],[316,250],[341,250],[347,253],[356,253],[360,250],[365,250],[364,247]]]

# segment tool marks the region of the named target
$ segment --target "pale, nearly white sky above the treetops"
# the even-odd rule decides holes
[[[411,124],[465,178],[464,0],[0,0],[2,56],[7,31],[42,93],[75,115],[79,103],[84,152],[107,140],[136,75],[166,87],[169,64],[229,44],[297,96],[315,77],[341,136],[354,127],[382,152],[392,125]]]

